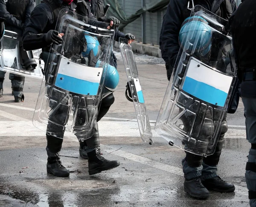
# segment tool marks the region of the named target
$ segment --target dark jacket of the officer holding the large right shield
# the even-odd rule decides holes
[[[178,36],[183,21],[190,16],[191,11],[187,9],[189,0],[170,0],[163,18],[163,24],[160,32],[160,50],[166,65],[171,65],[174,68],[175,61],[180,49]],[[236,2],[230,0],[232,10],[236,10]],[[215,0],[210,5],[208,0],[194,0],[195,5],[201,5],[205,9],[228,19],[232,11],[226,10],[225,0]],[[190,3],[190,8],[192,3]],[[225,11],[226,10],[226,11]]]

